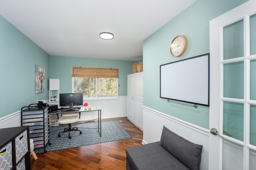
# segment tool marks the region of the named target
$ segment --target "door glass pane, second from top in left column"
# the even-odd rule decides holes
[[[224,64],[224,97],[244,98],[244,62]]]

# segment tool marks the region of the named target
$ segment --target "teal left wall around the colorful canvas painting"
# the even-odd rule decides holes
[[[50,55],[0,16],[0,117],[49,96]],[[45,68],[45,92],[35,92],[35,66]]]

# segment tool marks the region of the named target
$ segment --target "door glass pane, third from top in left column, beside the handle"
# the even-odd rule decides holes
[[[244,140],[244,104],[223,102],[223,134]]]

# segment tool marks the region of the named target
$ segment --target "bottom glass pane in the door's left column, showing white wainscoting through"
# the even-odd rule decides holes
[[[223,170],[242,170],[243,160],[243,147],[223,140]]]

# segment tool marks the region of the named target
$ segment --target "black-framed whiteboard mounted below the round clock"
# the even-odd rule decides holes
[[[160,98],[209,106],[210,53],[160,65]]]

